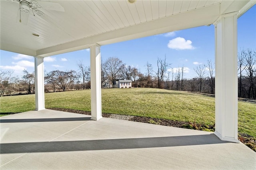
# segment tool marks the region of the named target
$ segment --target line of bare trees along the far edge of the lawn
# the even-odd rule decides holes
[[[157,67],[146,62],[146,72],[126,65],[117,57],[110,57],[101,63],[102,88],[113,87],[118,79],[132,80],[132,87],[161,88],[176,91],[215,93],[214,63],[194,67],[196,77],[184,78],[186,67],[173,68],[164,58],[157,58]],[[21,78],[13,71],[0,71],[0,95],[32,94],[35,91],[34,73],[24,70]],[[45,91],[90,89],[90,67],[82,61],[77,63],[77,70],[46,72],[44,76]],[[256,99],[256,51],[250,49],[238,52],[238,97]]]

